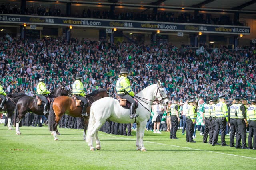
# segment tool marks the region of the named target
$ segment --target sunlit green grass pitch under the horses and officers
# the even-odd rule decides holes
[[[147,152],[136,151],[136,131],[133,137],[99,132],[101,149],[90,151],[83,141],[82,130],[63,129],[59,141],[54,141],[48,127],[21,127],[22,135],[0,124],[0,169],[255,169],[256,150],[212,146],[202,143],[196,133],[196,143],[187,143],[186,135],[177,131],[179,140],[169,139],[168,132],[153,134],[145,131]],[[220,137],[219,137],[220,141]],[[226,136],[229,144],[229,136]],[[94,145],[95,146],[95,145]]]

